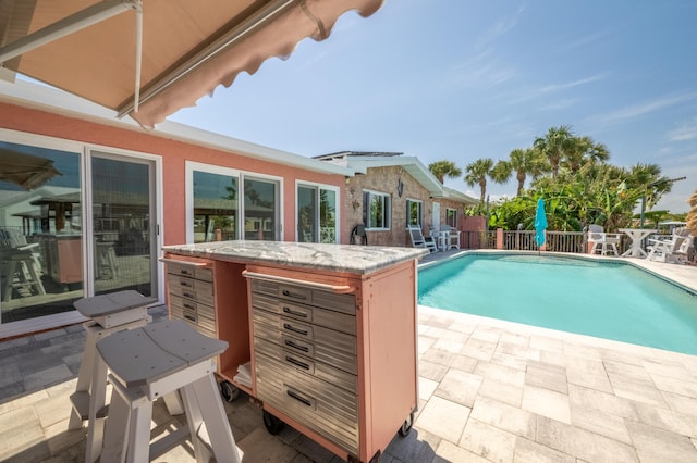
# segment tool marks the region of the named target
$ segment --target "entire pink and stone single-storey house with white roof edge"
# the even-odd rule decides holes
[[[311,159],[169,121],[146,132],[0,78],[0,158],[10,161],[0,172],[0,339],[81,322],[73,302],[86,296],[135,289],[164,302],[162,246],[348,243],[363,222],[371,245],[409,246],[407,217],[425,230],[457,227],[474,202],[416,158],[339,154]],[[22,162],[40,182],[9,175]],[[364,203],[387,209],[364,217]]]

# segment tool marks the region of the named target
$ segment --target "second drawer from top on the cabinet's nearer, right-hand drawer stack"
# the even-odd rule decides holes
[[[272,296],[253,293],[252,305],[301,322],[313,323],[338,331],[356,334],[356,317],[323,308],[284,301]]]

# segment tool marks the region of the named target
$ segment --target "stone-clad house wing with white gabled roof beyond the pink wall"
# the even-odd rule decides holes
[[[407,226],[424,234],[443,225],[463,230],[477,200],[443,186],[418,158],[399,152],[341,151],[315,159],[351,168],[344,189],[342,236],[365,225],[369,245],[411,246]]]

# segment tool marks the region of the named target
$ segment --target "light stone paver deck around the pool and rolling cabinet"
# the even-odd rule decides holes
[[[631,262],[697,290],[697,267]],[[0,461],[82,461],[68,397],[83,346],[81,326],[0,343]],[[695,355],[419,306],[418,367],[414,428],[381,463],[697,461]],[[270,436],[244,397],[224,405],[244,462],[341,461],[288,427]],[[178,420],[160,406],[152,426]]]

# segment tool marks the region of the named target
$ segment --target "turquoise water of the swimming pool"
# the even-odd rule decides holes
[[[629,264],[467,254],[420,268],[418,303],[697,354],[697,295]]]

